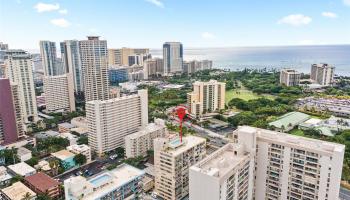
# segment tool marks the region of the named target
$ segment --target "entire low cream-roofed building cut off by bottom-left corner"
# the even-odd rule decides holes
[[[21,182],[16,182],[1,190],[2,200],[23,200],[24,197],[27,197],[28,200],[35,200],[36,193]]]

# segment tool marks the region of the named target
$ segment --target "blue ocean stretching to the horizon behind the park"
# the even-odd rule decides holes
[[[162,57],[160,49],[151,54]],[[350,45],[190,48],[184,50],[185,60],[213,60],[215,68],[292,68],[310,73],[311,64],[329,63],[338,75],[350,76]]]

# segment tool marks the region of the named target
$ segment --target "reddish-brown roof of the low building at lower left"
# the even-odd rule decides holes
[[[45,193],[48,189],[56,187],[60,184],[55,179],[42,172],[26,177],[25,181],[27,181],[43,193]]]

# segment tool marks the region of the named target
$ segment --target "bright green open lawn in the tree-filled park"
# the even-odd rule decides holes
[[[225,102],[228,103],[233,98],[240,98],[243,100],[251,100],[251,99],[258,99],[260,97],[266,97],[268,99],[274,99],[275,97],[268,94],[255,94],[250,90],[247,89],[234,89],[234,90],[228,90],[226,91],[226,97]]]

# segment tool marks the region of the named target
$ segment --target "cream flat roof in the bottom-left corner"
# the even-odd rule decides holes
[[[23,200],[24,195],[27,193],[29,193],[32,197],[36,196],[35,192],[21,182],[16,182],[11,186],[2,189],[2,192],[11,200]]]

